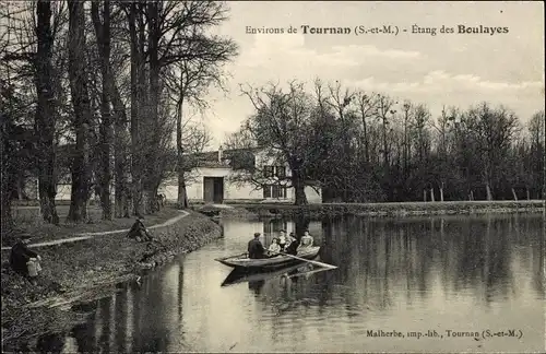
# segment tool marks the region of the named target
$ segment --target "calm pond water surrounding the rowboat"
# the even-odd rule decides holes
[[[221,286],[230,269],[214,258],[245,251],[254,232],[269,245],[278,229],[295,228],[224,221],[224,238],[98,300],[58,344],[63,352],[543,352],[541,217],[299,221],[323,245],[320,259],[337,269],[306,266]],[[373,335],[381,331],[395,334]]]

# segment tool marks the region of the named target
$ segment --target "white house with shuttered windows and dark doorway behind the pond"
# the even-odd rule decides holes
[[[294,188],[282,182],[290,176],[287,164],[269,165],[260,149],[234,149],[187,155],[192,158],[187,174],[187,193],[190,201],[223,203],[229,201],[294,202]],[[253,182],[241,178],[242,166],[261,166],[260,178]],[[248,175],[247,175],[248,176]],[[161,191],[167,200],[177,200],[178,184],[176,174],[167,178]],[[310,203],[322,201],[320,188],[307,186],[307,200]]]

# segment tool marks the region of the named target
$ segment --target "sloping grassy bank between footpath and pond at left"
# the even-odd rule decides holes
[[[72,304],[99,297],[116,283],[136,279],[143,269],[203,246],[219,237],[221,228],[190,212],[151,233],[154,243],[136,243],[122,233],[38,248],[43,274],[37,285],[13,273],[8,267],[9,251],[2,251],[2,349],[35,350],[40,334],[70,330],[78,320],[66,310]],[[31,343],[29,347],[24,343]]]

